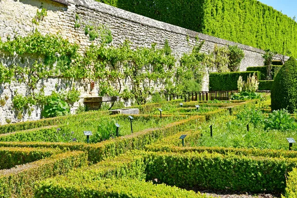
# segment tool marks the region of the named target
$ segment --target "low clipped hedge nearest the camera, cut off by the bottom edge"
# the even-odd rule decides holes
[[[165,184],[136,179],[103,179],[97,182],[43,183],[36,190],[36,198],[211,198]]]

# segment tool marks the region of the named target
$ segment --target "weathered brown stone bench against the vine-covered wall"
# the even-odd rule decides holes
[[[119,101],[120,98],[118,96],[107,96],[107,97],[101,97],[101,96],[95,96],[95,97],[85,97],[84,98],[84,104],[87,107],[87,110],[98,110],[101,107],[102,102],[112,102],[110,108],[113,106],[115,101]]]

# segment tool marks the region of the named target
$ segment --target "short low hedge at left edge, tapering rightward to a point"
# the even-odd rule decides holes
[[[0,170],[10,169],[16,165],[37,161],[59,152],[61,152],[61,150],[52,148],[0,147]]]

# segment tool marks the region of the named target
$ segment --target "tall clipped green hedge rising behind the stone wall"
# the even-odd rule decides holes
[[[297,55],[297,23],[258,0],[97,1],[207,35]]]

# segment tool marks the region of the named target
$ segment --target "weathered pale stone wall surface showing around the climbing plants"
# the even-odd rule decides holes
[[[40,9],[41,6],[48,10],[48,16],[37,26],[32,23],[32,19],[36,15],[36,10]],[[81,26],[79,28],[74,28],[76,14],[80,18],[79,23]],[[6,41],[7,37],[13,38],[16,34],[26,36],[37,28],[42,34],[59,34],[63,38],[69,39],[70,42],[79,44],[81,49],[84,50],[92,44],[89,37],[85,35],[84,28],[87,24],[93,26],[103,24],[109,27],[113,36],[112,45],[115,46],[128,39],[133,43],[134,47],[150,47],[152,43],[156,43],[158,48],[162,48],[165,39],[167,39],[176,57],[181,57],[183,53],[192,49],[196,41],[195,37],[198,35],[201,41],[205,41],[202,48],[204,52],[213,50],[215,45],[238,45],[239,48],[243,49],[245,58],[241,63],[240,71],[245,71],[247,66],[263,65],[263,50],[159,22],[95,0],[68,0],[68,3],[67,0],[0,0],[0,37],[2,41]],[[5,59],[5,55],[0,58],[4,65],[8,64],[7,61],[9,60]],[[63,83],[64,85],[61,85]],[[43,82],[43,85],[46,86],[46,95],[49,95],[52,91],[62,89],[67,91],[71,84],[75,84],[77,89],[81,90],[82,98],[90,95],[90,86],[84,87],[81,82],[68,82],[65,84],[63,79],[47,79]],[[59,86],[57,87],[57,85]],[[38,86],[39,89],[41,86]],[[208,77],[206,76],[203,91],[207,90]],[[11,120],[11,122],[20,121],[11,108],[11,98],[16,91],[19,94],[25,94],[25,85],[19,83],[0,85],[0,97],[9,96],[6,104],[0,106],[0,124],[5,124],[6,119]],[[97,89],[95,89],[96,94],[98,94]],[[80,102],[74,104],[72,112],[82,101],[81,99]],[[34,107],[32,110],[31,116],[26,115],[21,120],[40,119],[40,108]]]

